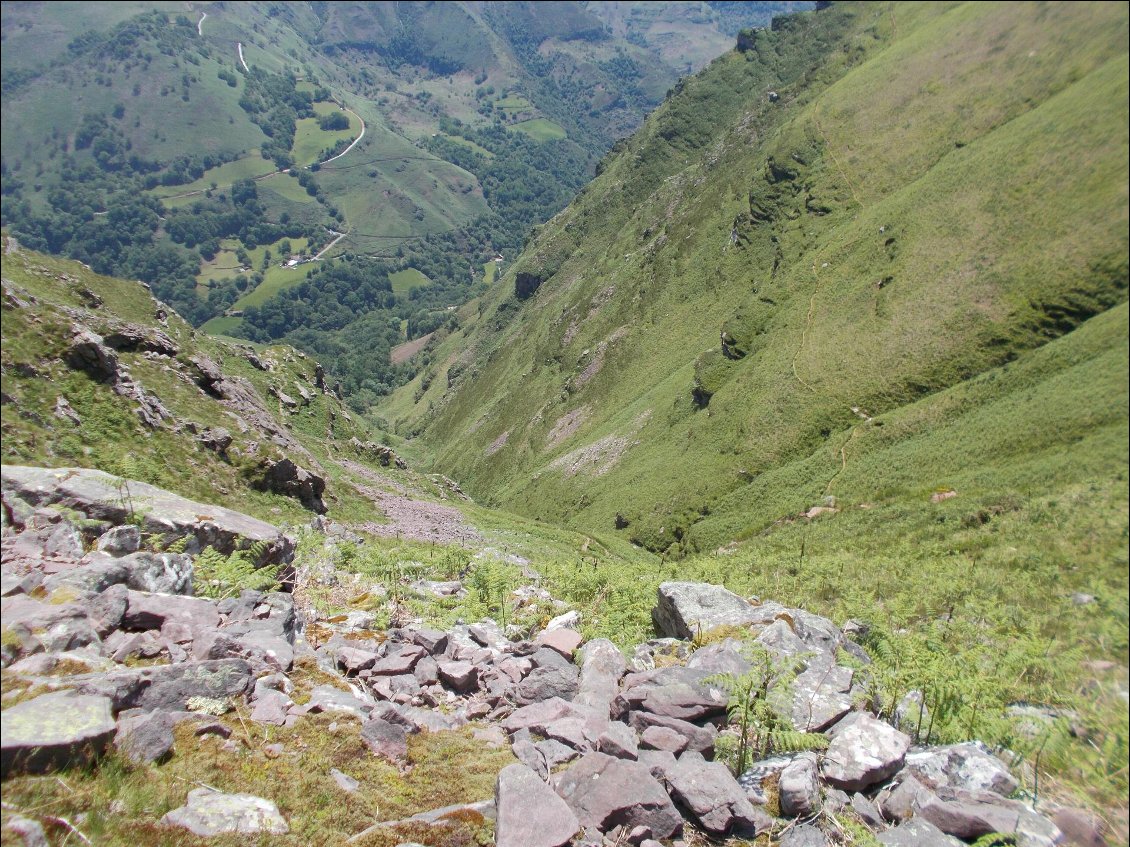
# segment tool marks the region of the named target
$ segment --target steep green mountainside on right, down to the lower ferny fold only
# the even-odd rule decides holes
[[[887,416],[1124,302],[1125,33],[1105,5],[872,5],[746,38],[388,417],[494,503],[668,553],[889,466]]]

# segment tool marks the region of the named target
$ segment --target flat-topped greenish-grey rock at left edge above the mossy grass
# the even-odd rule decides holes
[[[56,691],[3,710],[2,770],[44,774],[98,757],[118,726],[108,697]]]

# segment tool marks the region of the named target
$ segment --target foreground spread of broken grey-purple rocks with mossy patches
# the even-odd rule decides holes
[[[359,613],[315,627],[288,594],[192,596],[191,556],[139,550],[134,524],[63,477],[3,477],[6,840],[86,829],[105,844],[263,833],[441,845],[483,842],[459,839],[493,827],[499,847],[655,847],[697,833],[1063,842],[1055,822],[1008,798],[1017,781],[983,745],[914,746],[877,719],[869,658],[826,618],[664,583],[653,614],[667,637],[631,658],[585,641],[567,609],[524,631],[489,619],[374,629]],[[176,524],[176,510],[156,506],[153,519],[165,518]],[[737,777],[716,759],[739,732],[725,679],[748,674],[773,701],[777,737],[818,752]],[[432,772],[453,765],[436,749],[459,750],[462,783]],[[298,772],[301,785],[287,781]],[[66,793],[44,812],[33,803],[43,791]],[[427,806],[440,798],[450,802]]]

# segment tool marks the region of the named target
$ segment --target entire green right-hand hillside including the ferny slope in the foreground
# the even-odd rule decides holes
[[[1105,727],[1045,761],[1124,807],[1127,32],[837,3],[742,36],[384,418],[487,503],[659,553],[553,571],[620,630],[663,578],[854,617],[949,737],[1034,754],[1018,701]]]

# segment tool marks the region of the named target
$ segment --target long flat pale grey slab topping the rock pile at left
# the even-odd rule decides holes
[[[210,545],[221,553],[261,541],[264,549],[258,565],[285,564],[294,558],[294,540],[264,521],[103,471],[2,465],[0,487],[33,506],[59,504],[112,524],[144,515],[147,533],[191,534],[200,549]]]

